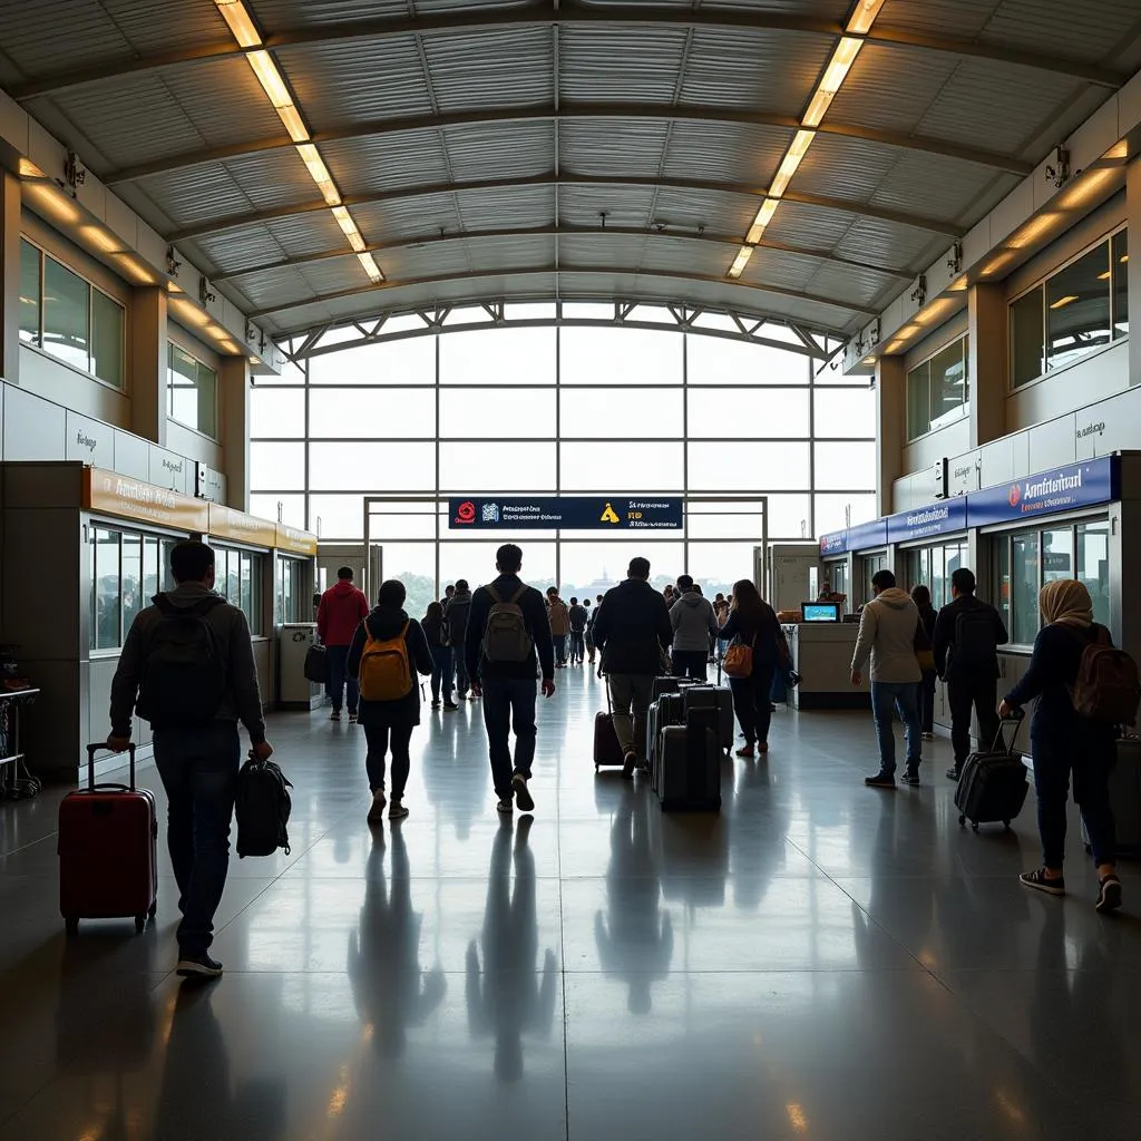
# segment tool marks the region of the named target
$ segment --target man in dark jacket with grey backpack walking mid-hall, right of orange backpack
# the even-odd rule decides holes
[[[471,693],[484,699],[484,725],[499,811],[534,811],[527,788],[535,759],[535,673],[543,696],[555,693],[555,648],[543,596],[519,578],[523,551],[507,543],[495,555],[499,577],[471,599],[467,665]],[[537,658],[537,661],[536,661]],[[515,759],[511,729],[515,729]]]

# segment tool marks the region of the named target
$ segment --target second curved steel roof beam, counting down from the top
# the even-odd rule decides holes
[[[734,111],[727,107],[672,107],[665,104],[578,104],[556,111],[549,107],[485,108],[456,112],[448,115],[418,115],[408,119],[383,119],[371,123],[354,123],[333,130],[318,131],[313,141],[318,146],[330,143],[353,141],[355,139],[383,138],[389,135],[405,135],[411,131],[446,130],[450,127],[486,126],[496,123],[560,122],[574,120],[612,120],[640,119],[648,122],[704,122],[728,123],[738,127],[770,127],[792,135],[799,122],[790,115],[772,115],[753,111]],[[883,146],[898,147],[905,151],[919,151],[924,154],[940,155],[946,159],[957,159],[963,162],[978,163],[996,170],[1009,171],[1025,178],[1034,171],[1034,164],[1022,159],[985,151],[978,147],[960,146],[941,139],[925,138],[920,135],[905,135],[898,131],[883,131],[855,123],[834,123],[825,120],[818,128],[822,135],[837,135],[844,138],[857,138],[867,143],[879,143]],[[220,147],[204,147],[199,151],[187,151],[179,155],[160,159],[156,162],[139,163],[135,167],[123,167],[107,172],[102,181],[107,186],[120,183],[132,183],[156,175],[173,173],[193,167],[204,167],[213,162],[226,162],[243,159],[270,151],[283,151],[293,147],[289,136],[275,136],[267,139],[250,139]]]

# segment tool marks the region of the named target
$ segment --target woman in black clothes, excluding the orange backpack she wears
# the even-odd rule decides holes
[[[361,658],[370,637],[378,641],[402,638],[412,680],[408,691],[391,701],[369,701],[364,694],[361,695],[361,725],[364,726],[365,739],[369,742],[365,767],[369,787],[372,790],[370,824],[375,824],[385,812],[385,754],[389,745],[393,748],[393,804],[388,815],[394,820],[408,815],[404,807],[404,786],[412,768],[408,745],[412,742],[412,730],[420,725],[420,683],[416,674],[430,674],[432,671],[428,639],[420,623],[405,614],[404,599],[404,583],[395,578],[383,583],[377,608],[357,626],[349,646],[347,669],[351,677],[359,680]]]

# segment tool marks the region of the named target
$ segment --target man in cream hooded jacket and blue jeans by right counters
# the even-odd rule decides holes
[[[880,771],[864,783],[872,788],[896,787],[896,733],[892,719],[899,709],[907,736],[907,770],[903,780],[919,785],[922,737],[916,683],[923,673],[915,656],[915,631],[920,612],[896,576],[881,570],[872,580],[874,598],[860,615],[859,637],[852,655],[852,685],[863,681],[872,659],[872,715],[880,744]]]

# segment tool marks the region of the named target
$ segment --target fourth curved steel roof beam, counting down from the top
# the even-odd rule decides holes
[[[715,245],[726,246],[739,246],[741,237],[735,234],[711,234],[707,230],[702,234],[694,233],[693,230],[680,230],[680,229],[647,229],[638,226],[607,226],[605,228],[600,226],[534,226],[527,227],[512,227],[508,229],[483,229],[483,230],[464,230],[459,234],[434,234],[427,237],[410,237],[400,242],[390,242],[388,244],[377,243],[370,244],[367,250],[370,253],[374,254],[386,254],[393,250],[410,250],[419,249],[423,245],[442,245],[447,242],[480,242],[488,238],[499,237],[576,237],[580,235],[585,236],[597,236],[597,237],[608,237],[610,235],[618,235],[621,237],[645,237],[652,240],[661,238],[674,238],[685,242],[707,242]],[[871,270],[872,273],[883,274],[888,277],[896,277],[899,281],[911,282],[914,281],[915,274],[908,269],[896,269],[890,266],[877,266],[872,265],[867,261],[858,261],[853,258],[842,258],[832,253],[830,250],[811,249],[803,245],[790,245],[785,242],[774,242],[768,238],[762,238],[758,243],[758,249],[762,250],[777,250],[782,253],[796,253],[802,254],[808,258],[817,258],[820,261],[828,261],[834,265],[848,266],[852,269],[859,270]],[[249,274],[264,274],[269,273],[274,269],[284,269],[290,266],[307,266],[315,261],[329,261],[332,258],[355,258],[356,254],[351,250],[346,250],[343,246],[337,246],[331,250],[323,250],[319,253],[309,253],[300,258],[281,258],[277,261],[266,261],[257,266],[243,266],[241,269],[230,269],[227,273],[216,273],[210,275],[210,281],[212,282],[225,282],[233,281],[235,277],[244,277]]]

